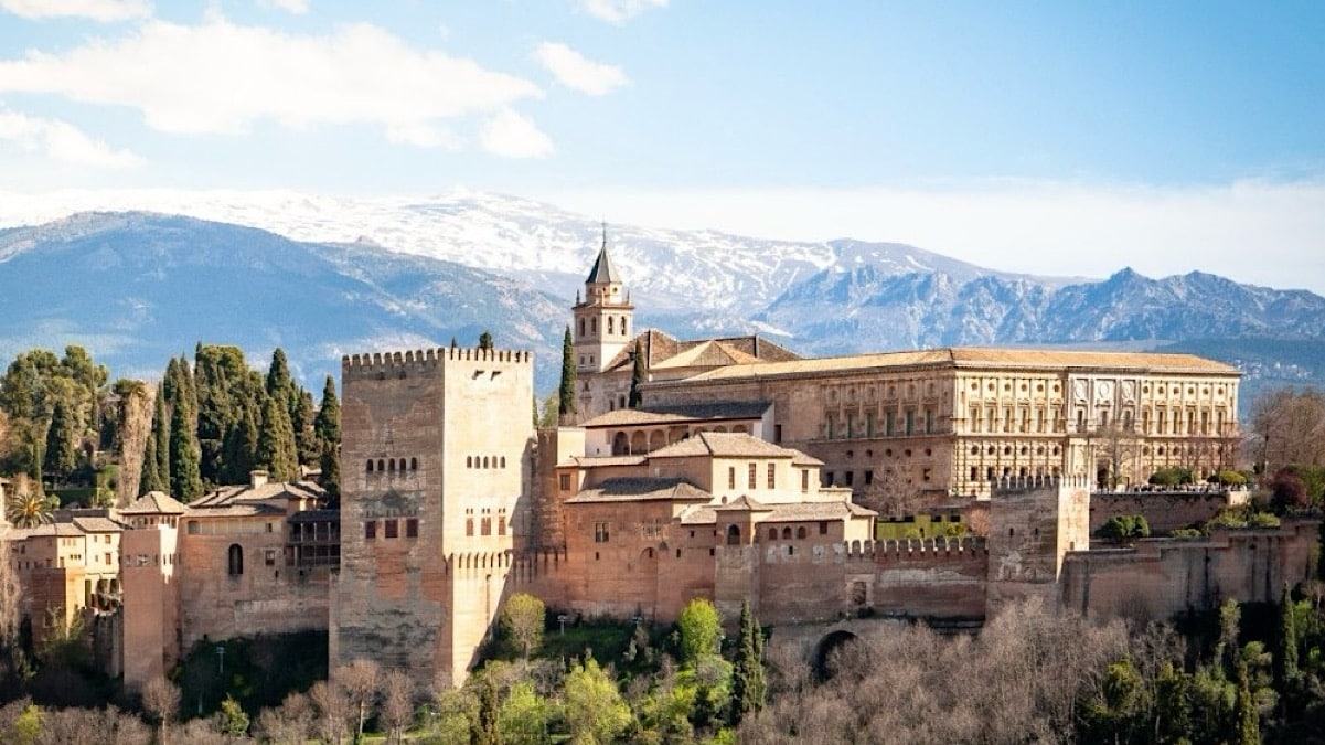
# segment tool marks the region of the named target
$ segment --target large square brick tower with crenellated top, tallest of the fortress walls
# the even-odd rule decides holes
[[[330,661],[458,684],[529,522],[533,357],[437,349],[341,363],[341,574]]]

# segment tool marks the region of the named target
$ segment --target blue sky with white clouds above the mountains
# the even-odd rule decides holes
[[[1325,3],[0,0],[0,195],[457,187],[1325,294]]]

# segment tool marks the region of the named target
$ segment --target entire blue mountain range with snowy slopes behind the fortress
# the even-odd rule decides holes
[[[16,215],[15,204],[0,221],[64,216],[0,229],[0,355],[81,343],[115,375],[159,375],[203,341],[238,345],[256,365],[281,346],[306,384],[319,384],[341,354],[472,345],[486,329],[501,346],[537,353],[546,392],[568,306],[606,239],[636,323],[681,337],[758,331],[808,355],[949,345],[1194,351],[1244,370],[1244,403],[1267,384],[1325,379],[1325,298],[1199,272],[1014,274],[902,244],[604,228],[472,192],[97,201],[168,213],[70,213],[94,205],[70,198]]]

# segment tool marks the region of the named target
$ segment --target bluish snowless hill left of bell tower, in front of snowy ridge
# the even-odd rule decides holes
[[[448,261],[191,217],[85,213],[0,232],[0,355],[78,343],[117,375],[159,375],[203,341],[262,363],[281,346],[313,386],[339,375],[342,354],[473,345],[489,329],[535,350],[546,382],[563,305]]]

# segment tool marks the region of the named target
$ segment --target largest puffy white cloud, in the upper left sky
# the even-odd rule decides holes
[[[196,27],[154,20],[114,41],[0,61],[0,91],[130,106],[150,127],[174,134],[244,134],[260,121],[295,130],[372,123],[400,142],[431,146],[448,142],[439,122],[542,95],[530,81],[413,49],[374,25],[306,36],[215,13]]]

